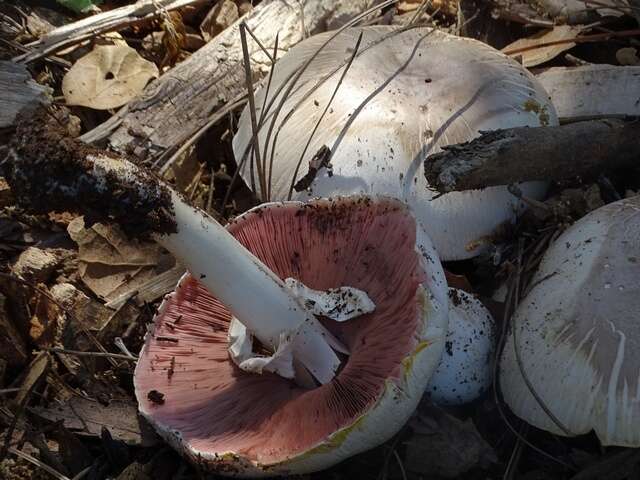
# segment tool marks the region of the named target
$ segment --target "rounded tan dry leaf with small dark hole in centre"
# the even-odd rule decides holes
[[[99,45],[62,79],[68,105],[96,110],[117,108],[138,96],[158,76],[155,64],[126,45]]]

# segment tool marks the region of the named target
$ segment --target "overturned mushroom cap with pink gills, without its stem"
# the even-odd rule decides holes
[[[228,354],[231,312],[186,275],[140,353],[141,413],[187,457],[234,476],[320,470],[396,433],[436,368],[447,328],[444,273],[406,205],[366,197],[269,203],[228,229],[280,278],[315,292],[351,285],[375,311],[347,322],[320,317],[350,356],[329,383],[305,388],[240,370]]]

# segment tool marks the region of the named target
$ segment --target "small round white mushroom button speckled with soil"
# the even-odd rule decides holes
[[[449,289],[449,332],[444,353],[429,380],[427,395],[439,405],[462,405],[491,384],[495,322],[473,295]]]

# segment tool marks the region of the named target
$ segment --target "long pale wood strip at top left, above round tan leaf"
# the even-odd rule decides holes
[[[122,30],[139,22],[148,21],[163,12],[186,7],[204,0],[139,0],[133,5],[115,8],[92,15],[77,22],[56,28],[29,45],[29,52],[14,61],[32,62],[70,45],[75,45],[102,33]]]

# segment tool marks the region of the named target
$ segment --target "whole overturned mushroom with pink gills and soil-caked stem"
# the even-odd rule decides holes
[[[444,273],[402,202],[268,204],[227,230],[42,111],[18,123],[0,167],[20,203],[150,233],[189,268],[147,336],[136,394],[169,442],[219,473],[313,471],[383,442],[442,354]]]

